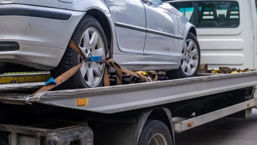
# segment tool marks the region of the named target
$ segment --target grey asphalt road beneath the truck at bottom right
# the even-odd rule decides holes
[[[257,109],[247,119],[222,118],[175,134],[175,145],[256,145]]]

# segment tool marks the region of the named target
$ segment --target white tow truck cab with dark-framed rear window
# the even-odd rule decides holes
[[[256,69],[255,0],[174,0],[168,3],[196,26],[201,63],[208,64],[210,69]]]

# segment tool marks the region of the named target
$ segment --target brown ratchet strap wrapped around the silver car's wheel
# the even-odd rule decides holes
[[[85,54],[82,52],[82,50],[79,48],[79,46],[75,42],[70,40],[68,46],[71,49],[74,49],[75,51],[77,51],[79,53],[79,55],[82,55],[84,57],[84,60],[80,64],[76,65],[75,67],[69,69],[65,73],[63,73],[60,76],[58,76],[57,78],[55,78],[56,85],[55,84],[48,84],[46,86],[43,86],[37,92],[33,93],[31,95],[31,97],[33,97],[38,92],[49,91],[49,90],[55,88],[56,86],[60,85],[61,83],[65,82],[67,79],[69,79],[71,76],[73,76],[80,69],[80,67],[83,65],[83,63],[85,63],[87,61],[90,61],[90,57],[86,57]],[[125,68],[121,67],[113,59],[109,59],[108,61],[106,61],[105,59],[101,59],[101,61],[94,61],[94,62],[103,62],[107,66],[113,67],[115,69],[115,73],[116,73],[116,83],[117,83],[117,85],[122,84],[122,72],[125,72],[125,73],[130,74],[130,75],[133,76],[132,79],[129,82],[130,84],[139,82],[139,80],[141,80],[141,82],[157,81],[157,75],[156,74],[152,74],[150,77],[146,77],[142,74],[138,74],[136,72],[133,72],[133,71],[130,71],[128,69],[125,69]],[[108,76],[106,67],[105,67],[105,70],[104,70],[104,80],[103,81],[104,81],[104,86],[110,86],[110,80],[109,80],[109,76]]]

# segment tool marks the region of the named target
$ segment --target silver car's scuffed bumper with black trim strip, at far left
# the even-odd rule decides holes
[[[44,70],[56,67],[84,15],[49,7],[0,5],[0,62]],[[19,46],[7,47],[13,42]]]

